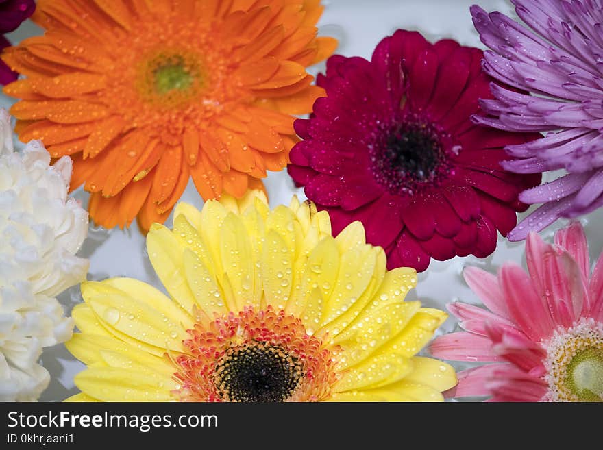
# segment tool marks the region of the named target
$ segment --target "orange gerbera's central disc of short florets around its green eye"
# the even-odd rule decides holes
[[[211,25],[175,13],[161,23],[138,21],[108,51],[114,66],[98,100],[132,127],[180,134],[241,103],[249,92],[232,77],[232,42]]]

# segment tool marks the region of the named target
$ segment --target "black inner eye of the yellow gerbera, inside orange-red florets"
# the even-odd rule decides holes
[[[295,356],[278,345],[254,341],[224,353],[216,366],[215,386],[229,401],[285,401],[303,376]]]

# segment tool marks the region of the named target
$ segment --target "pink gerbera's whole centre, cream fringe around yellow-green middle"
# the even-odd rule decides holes
[[[603,401],[603,324],[582,319],[544,343],[546,401]]]

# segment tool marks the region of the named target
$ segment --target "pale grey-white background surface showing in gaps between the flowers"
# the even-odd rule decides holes
[[[506,14],[512,12],[510,3],[504,0],[323,0],[323,3],[326,8],[319,22],[319,34],[339,39],[340,45],[336,53],[346,56],[360,55],[365,58],[370,58],[373,48],[384,36],[398,28],[417,29],[432,42],[441,38],[454,38],[462,45],[483,48],[473,29],[469,6],[478,3],[488,11],[500,10]],[[39,33],[40,29],[28,21],[8,38],[12,42],[19,42],[27,36]],[[322,68],[323,65],[314,67],[312,73],[321,71]],[[1,106],[6,108],[11,103],[8,97],[0,94]],[[548,175],[547,179],[552,177]],[[293,186],[286,171],[270,173],[266,186],[272,206],[288,203],[293,194],[297,194],[301,199],[306,198],[301,189]],[[79,190],[75,192],[75,197],[81,199],[85,205],[88,193]],[[188,184],[182,200],[199,208],[202,205],[192,182]],[[603,237],[599,225],[602,217],[603,212],[600,211],[583,219],[591,245],[591,258],[595,258],[602,247]],[[171,226],[171,220],[170,217],[168,226]],[[557,223],[545,230],[543,235],[550,239],[552,230],[563,225],[564,222]],[[512,243],[499,237],[497,250],[484,260],[469,256],[445,262],[432,261],[428,271],[419,274],[419,285],[407,298],[420,299],[424,305],[441,309],[445,308],[446,303],[454,300],[479,303],[460,276],[463,267],[474,265],[495,271],[506,260],[524,264],[523,252],[523,242]],[[126,276],[162,288],[147,260],[145,239],[136,225],[123,231],[90,227],[88,239],[79,255],[90,258],[88,279]],[[79,288],[75,286],[64,292],[60,301],[69,314],[73,305],[82,301]],[[449,318],[438,334],[450,332],[456,326],[454,319]],[[76,361],[63,345],[46,349],[42,355],[42,364],[51,373],[52,380],[40,400],[61,401],[78,392],[73,384],[73,375],[81,371],[84,365]],[[460,365],[457,367],[461,368]]]

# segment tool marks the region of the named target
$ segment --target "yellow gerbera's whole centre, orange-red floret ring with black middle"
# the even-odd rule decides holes
[[[197,323],[178,355],[180,401],[319,401],[337,381],[336,349],[270,306]]]

